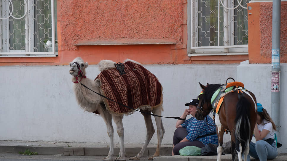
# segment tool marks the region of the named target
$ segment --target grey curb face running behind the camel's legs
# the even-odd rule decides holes
[[[31,152],[37,152],[39,155],[55,155],[64,154],[70,155],[95,155],[103,156],[109,153],[109,147],[55,147],[55,146],[0,146],[0,152],[2,153],[19,153],[25,152],[29,149]],[[114,148],[114,156],[119,154],[120,148]],[[136,156],[141,151],[141,147],[125,148],[126,156]],[[152,156],[156,151],[156,148],[147,147],[143,156]],[[170,155],[172,148],[161,148],[161,155]]]

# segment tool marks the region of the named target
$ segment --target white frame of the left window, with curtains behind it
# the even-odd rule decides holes
[[[9,3],[12,3],[11,0],[8,0]],[[0,46],[3,46],[3,50],[7,52],[2,52],[0,50],[0,57],[56,57],[58,55],[58,52],[55,51],[55,13],[54,13],[54,0],[50,0],[51,2],[51,19],[52,19],[52,52],[33,52],[34,48],[34,0],[24,0],[25,1],[25,50],[8,50],[9,43],[6,43],[5,46],[3,46],[2,37],[0,35]],[[7,10],[9,3],[2,4],[2,8],[0,9],[1,16],[3,15],[3,12],[6,12],[10,15],[9,11]],[[28,7],[28,9],[27,9]],[[13,11],[11,11],[13,12]],[[1,17],[0,16],[0,17]],[[24,15],[23,15],[24,16]],[[9,18],[8,17],[2,17],[2,24],[8,25],[9,24]],[[2,28],[2,24],[0,25],[0,30],[2,30],[2,36],[3,40],[4,38],[8,40],[9,42],[9,27],[7,29]]]

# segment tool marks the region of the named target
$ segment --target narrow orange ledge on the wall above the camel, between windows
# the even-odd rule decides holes
[[[146,39],[116,39],[116,40],[80,40],[75,46],[84,45],[152,45],[152,44],[176,44],[175,38],[146,38]]]

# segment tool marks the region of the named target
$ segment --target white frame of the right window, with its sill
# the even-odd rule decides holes
[[[234,15],[234,9],[230,9],[224,17],[227,16],[228,23],[230,25],[228,28],[228,35],[232,35],[232,37],[229,37],[228,43],[224,43],[224,46],[219,46],[219,40],[217,46],[194,46],[194,42],[197,42],[196,39],[198,38],[198,31],[195,32],[197,35],[193,36],[192,34],[194,33],[194,26],[197,26],[198,24],[198,16],[196,15],[197,11],[194,11],[193,8],[193,3],[194,7],[198,10],[198,3],[195,3],[194,1],[190,0],[189,1],[190,5],[190,49],[188,49],[188,56],[212,56],[212,55],[248,55],[248,45],[229,45],[234,43],[234,36],[231,34],[231,31],[234,31],[234,23],[231,20],[232,16]],[[220,3],[220,0],[218,1],[218,10],[219,6],[222,7]],[[229,6],[230,8],[230,0],[223,0],[223,4],[225,6]],[[244,7],[245,9],[245,7]],[[220,11],[220,10],[219,10]],[[226,21],[225,20],[225,21]],[[219,21],[219,12],[218,12],[218,21]],[[218,23],[218,28],[219,28],[219,23]],[[219,32],[218,33],[218,38],[219,38]],[[227,37],[228,37],[227,35]]]

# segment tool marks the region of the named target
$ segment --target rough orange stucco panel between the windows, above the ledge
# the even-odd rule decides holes
[[[60,2],[62,48],[76,50],[79,40],[176,38],[182,43],[183,3],[178,0]]]

